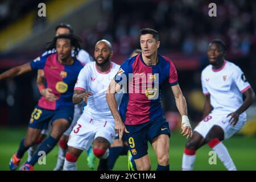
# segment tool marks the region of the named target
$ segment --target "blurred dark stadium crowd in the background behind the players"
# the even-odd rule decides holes
[[[16,2],[0,3],[0,31],[39,3],[28,3],[27,0]],[[217,4],[217,17],[208,15],[208,5],[212,2]],[[177,67],[179,83],[187,97],[192,121],[199,122],[201,119],[204,96],[201,94],[200,73],[208,64],[206,53],[208,43],[213,38],[224,40],[228,46],[226,59],[241,67],[256,90],[256,1],[102,0],[101,8],[103,18],[79,35],[82,48],[93,56],[97,40],[107,39],[113,44],[113,61],[121,64],[133,49],[139,48],[138,32],[141,28],[158,30],[161,42],[159,53],[170,57]],[[67,23],[72,25],[72,22]],[[30,53],[31,57],[39,55],[38,52]],[[1,63],[0,69],[1,72],[4,70]],[[176,111],[174,98],[170,94],[166,86],[163,92],[166,112]],[[0,125],[26,125],[38,97],[35,73],[1,82]],[[255,112],[249,110],[249,113],[252,113],[249,118],[255,118]],[[175,118],[178,117],[172,119]]]

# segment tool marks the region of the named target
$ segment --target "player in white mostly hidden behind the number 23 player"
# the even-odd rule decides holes
[[[55,36],[58,36],[60,34],[72,34],[73,33],[73,28],[67,23],[60,23],[55,27],[55,31],[56,31]],[[47,54],[51,54],[51,53],[54,53],[54,52],[56,52],[56,49],[46,51],[46,52],[43,53],[42,56],[47,55]],[[79,60],[82,65],[86,65],[87,63],[90,63],[90,62],[93,61],[92,57],[84,49],[80,49],[80,51],[77,55],[77,60]],[[44,71],[43,70],[38,70],[37,84],[38,84],[40,94],[42,94],[42,96],[44,96],[47,100],[55,101],[57,99],[56,96],[51,93],[51,89],[45,88],[45,86],[44,86]],[[83,105],[84,105],[83,102],[81,102],[80,104],[75,105],[73,121],[72,121],[71,125],[69,126],[69,128],[64,132],[63,136],[59,140],[58,159],[57,159],[56,167],[53,169],[55,171],[60,171],[60,170],[63,169],[65,153],[66,153],[67,147],[68,147],[67,146],[68,137],[69,137],[69,134],[71,133],[73,127],[76,125],[77,120],[79,119],[79,117],[82,114]],[[29,150],[28,150],[28,159],[27,159],[28,161],[34,155],[34,152],[38,148],[39,143],[41,143],[42,140],[44,138],[46,138],[46,135],[50,131],[51,131],[51,125],[49,124],[49,126],[47,126],[47,129],[42,130],[41,135],[37,140],[38,144],[29,148]],[[90,162],[88,161],[88,166],[90,168],[94,168],[93,161],[90,161]]]

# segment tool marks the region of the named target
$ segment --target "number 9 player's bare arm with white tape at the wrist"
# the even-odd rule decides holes
[[[181,134],[183,134],[183,136],[187,136],[188,139],[188,137],[192,137],[193,131],[188,119],[187,102],[183,96],[183,93],[181,92],[179,84],[172,86],[172,92],[174,93],[177,109],[182,116]]]

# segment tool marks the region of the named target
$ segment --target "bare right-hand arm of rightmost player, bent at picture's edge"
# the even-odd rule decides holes
[[[250,107],[250,105],[255,101],[255,93],[253,89],[249,88],[243,94],[245,94],[245,100],[243,101],[243,104],[236,111],[234,111],[234,113],[230,113],[227,116],[231,116],[229,122],[232,126],[235,126],[238,122],[239,115],[246,111],[246,109],[248,109],[248,107]]]

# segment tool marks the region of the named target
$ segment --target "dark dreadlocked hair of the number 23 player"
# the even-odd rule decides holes
[[[76,36],[74,34],[61,34],[61,35],[58,35],[58,36],[55,36],[52,40],[52,42],[48,42],[47,43],[47,47],[46,47],[46,50],[49,51],[49,50],[52,50],[52,49],[56,49],[56,42],[58,39],[69,39],[70,40],[70,43],[71,43],[71,46],[73,46],[75,49],[74,49],[74,55],[75,57],[78,55],[80,49],[81,49],[81,39],[79,38],[79,36]]]

